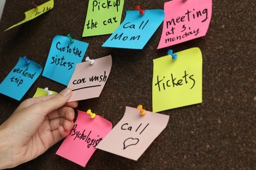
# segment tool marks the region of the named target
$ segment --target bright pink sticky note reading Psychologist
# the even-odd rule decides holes
[[[70,135],[60,145],[56,154],[85,167],[97,144],[112,129],[112,123],[101,116],[91,118],[87,112],[77,111],[77,120]]]

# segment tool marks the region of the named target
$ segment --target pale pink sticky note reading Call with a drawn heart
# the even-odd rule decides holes
[[[168,121],[169,116],[165,114],[147,110],[141,115],[139,109],[125,107],[123,118],[96,148],[137,161]]]

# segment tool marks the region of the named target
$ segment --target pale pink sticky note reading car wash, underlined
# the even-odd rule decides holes
[[[93,65],[89,61],[77,63],[75,72],[68,83],[72,90],[69,101],[79,101],[99,97],[106,80],[110,75],[112,57],[94,59]]]

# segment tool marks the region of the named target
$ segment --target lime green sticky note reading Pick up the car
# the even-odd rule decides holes
[[[89,0],[83,37],[113,33],[121,22],[124,0]]]

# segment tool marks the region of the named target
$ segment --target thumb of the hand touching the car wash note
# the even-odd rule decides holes
[[[35,108],[39,109],[42,114],[48,114],[53,110],[56,110],[64,106],[70,97],[72,96],[72,90],[70,88],[65,88],[62,92],[54,95],[53,97],[35,104]]]

